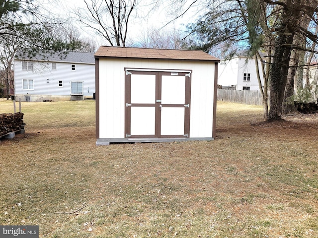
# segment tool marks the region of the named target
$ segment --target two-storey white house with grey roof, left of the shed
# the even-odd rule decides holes
[[[94,53],[58,52],[14,58],[15,99],[22,102],[92,98],[95,93]]]

